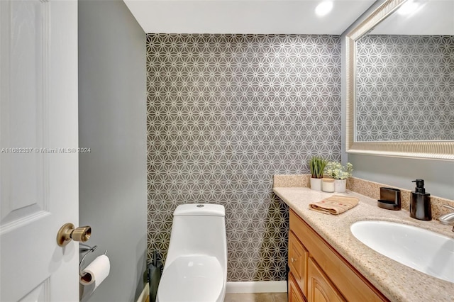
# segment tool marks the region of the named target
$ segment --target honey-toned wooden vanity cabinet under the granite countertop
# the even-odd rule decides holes
[[[304,261],[298,264],[300,259]],[[389,301],[293,210],[289,267],[289,288],[292,284],[298,286],[306,301]],[[289,301],[299,301],[292,300],[291,292],[297,289],[289,289]]]

